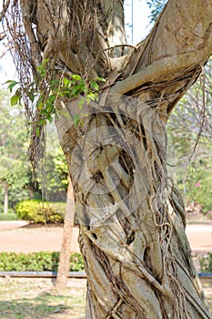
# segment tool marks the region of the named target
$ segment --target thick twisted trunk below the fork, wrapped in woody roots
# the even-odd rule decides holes
[[[86,262],[86,318],[209,318],[184,205],[167,178],[164,123],[148,103],[126,97],[125,107],[86,107],[76,129],[72,103],[57,123]]]

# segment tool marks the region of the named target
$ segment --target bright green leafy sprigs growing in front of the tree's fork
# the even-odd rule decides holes
[[[36,135],[40,136],[41,128],[46,125],[46,122],[51,122],[56,114],[56,102],[68,101],[71,98],[80,97],[79,108],[87,102],[98,100],[99,85],[98,82],[105,82],[103,77],[96,77],[91,81],[86,81],[85,78],[79,75],[71,75],[69,78],[55,78],[50,75],[48,69],[48,59],[45,59],[42,64],[36,68],[35,80],[31,83],[24,83],[22,87],[20,83],[8,80],[8,90],[10,93],[15,90],[15,94],[11,98],[11,105],[21,105],[23,96],[25,95],[38,110],[39,118],[36,121]],[[75,123],[77,121],[75,119]]]

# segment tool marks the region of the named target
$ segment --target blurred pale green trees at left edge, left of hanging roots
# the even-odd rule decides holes
[[[14,209],[18,201],[28,197],[25,186],[30,180],[27,140],[23,112],[11,108],[8,94],[0,92],[0,191],[4,212]]]

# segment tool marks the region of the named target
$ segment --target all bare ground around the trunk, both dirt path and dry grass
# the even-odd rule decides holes
[[[77,227],[72,252],[78,252]],[[212,252],[212,225],[188,224],[187,236],[193,255]],[[60,251],[62,226],[35,226],[26,222],[0,222],[0,252]],[[197,260],[197,258],[196,258]],[[202,282],[212,309],[212,280]],[[69,279],[63,293],[57,293],[55,280],[0,278],[1,319],[85,319],[86,280]]]

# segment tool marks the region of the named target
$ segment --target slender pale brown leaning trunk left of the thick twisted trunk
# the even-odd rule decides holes
[[[58,291],[63,291],[64,289],[66,289],[66,283],[69,273],[69,261],[71,256],[71,241],[74,227],[74,211],[75,200],[73,187],[71,182],[69,182],[66,198],[66,217],[64,220],[64,232],[60,250],[60,261],[58,266],[58,273],[56,276],[56,289]]]

